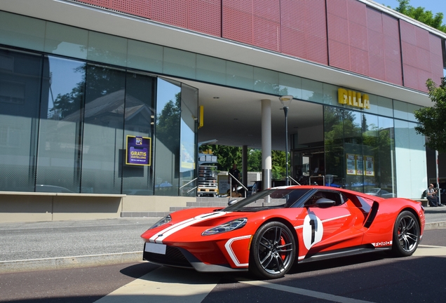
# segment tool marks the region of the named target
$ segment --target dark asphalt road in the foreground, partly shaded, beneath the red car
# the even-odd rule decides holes
[[[0,274],[0,302],[444,302],[446,231],[414,256],[386,253],[299,264],[285,277],[199,274],[147,262]]]

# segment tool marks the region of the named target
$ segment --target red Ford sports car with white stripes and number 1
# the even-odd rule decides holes
[[[294,263],[380,250],[409,256],[423,231],[419,202],[291,186],[230,201],[227,208],[177,211],[141,237],[149,262],[279,278]]]

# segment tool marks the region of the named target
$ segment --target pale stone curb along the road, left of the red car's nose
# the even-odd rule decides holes
[[[47,269],[71,269],[142,261],[142,251],[107,255],[55,257],[46,259],[15,260],[0,262],[0,274]]]

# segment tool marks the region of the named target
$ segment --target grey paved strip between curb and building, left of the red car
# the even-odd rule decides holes
[[[140,235],[159,219],[0,224],[0,262],[142,251]]]

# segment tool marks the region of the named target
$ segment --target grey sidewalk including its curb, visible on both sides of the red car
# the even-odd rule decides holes
[[[426,230],[446,228],[446,207],[425,215]],[[141,261],[140,235],[159,219],[0,223],[0,274]]]

